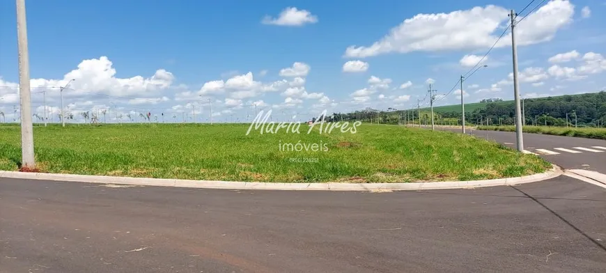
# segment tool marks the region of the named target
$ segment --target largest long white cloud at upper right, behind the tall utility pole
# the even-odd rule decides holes
[[[549,1],[518,26],[518,45],[552,40],[559,29],[572,22],[573,14],[570,1]],[[507,25],[507,15],[506,8],[492,5],[451,13],[418,14],[404,20],[373,45],[348,47],[345,56],[364,58],[388,53],[485,49],[494,44]],[[505,37],[497,47],[509,46],[510,40]]]

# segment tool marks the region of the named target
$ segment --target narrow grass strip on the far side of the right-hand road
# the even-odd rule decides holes
[[[515,126],[479,126],[478,130],[515,132]],[[586,139],[605,139],[605,128],[541,127],[524,126],[522,132],[534,134],[553,134],[566,137],[584,137]]]

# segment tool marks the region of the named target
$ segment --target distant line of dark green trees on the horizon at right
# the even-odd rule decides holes
[[[465,113],[465,120],[470,124],[513,125],[515,102],[503,101],[500,98],[482,100],[485,107]],[[413,123],[430,124],[430,111],[424,109],[386,110],[366,108],[350,113],[334,113],[322,117],[325,121],[355,121],[368,123]],[[547,125],[578,127],[604,127],[606,123],[606,92],[586,93],[580,95],[563,95],[557,97],[534,98],[524,100],[524,116],[527,125]],[[436,124],[459,125],[461,114],[457,111],[435,112]]]

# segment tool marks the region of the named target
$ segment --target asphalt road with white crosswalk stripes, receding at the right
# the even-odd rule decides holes
[[[460,132],[460,128],[440,128],[440,130],[451,130]],[[513,149],[515,146],[515,132],[498,132],[498,131],[483,131],[483,130],[467,130],[467,134],[473,134],[476,137],[489,139],[503,143]],[[524,137],[524,148],[532,153],[536,153],[549,162],[557,164],[564,169],[587,169],[606,173],[606,150],[593,147],[605,147],[606,141],[600,139],[584,139],[580,137],[561,137],[548,134],[522,134]],[[580,150],[577,147],[589,148],[596,150],[591,152],[588,150]],[[564,148],[572,150],[575,153],[568,153],[555,148]],[[537,150],[547,150],[556,155],[546,155]]]

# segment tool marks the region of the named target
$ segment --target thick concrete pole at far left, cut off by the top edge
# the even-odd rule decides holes
[[[31,124],[31,90],[29,88],[29,52],[25,0],[17,0],[17,52],[19,54],[19,95],[21,100],[22,169],[36,169],[33,156],[33,125]]]

